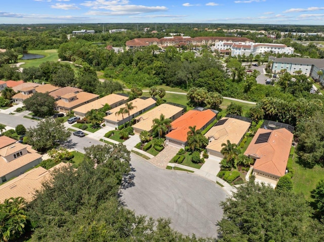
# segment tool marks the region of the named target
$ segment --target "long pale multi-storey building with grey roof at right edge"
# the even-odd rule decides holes
[[[302,71],[302,74],[312,77],[324,85],[324,60],[313,58],[274,58],[271,70],[279,73],[286,70],[290,74]],[[321,71],[321,74],[319,74]]]

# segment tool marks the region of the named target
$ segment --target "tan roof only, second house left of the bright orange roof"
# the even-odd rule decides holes
[[[133,103],[133,106],[135,107],[133,110],[130,111],[130,115],[133,115],[137,112],[139,112],[140,110],[143,110],[149,106],[151,106],[152,104],[155,104],[156,101],[152,98],[148,98],[146,100],[144,99],[134,99],[128,103]],[[123,119],[123,116],[120,115],[115,115],[115,113],[117,113],[120,108],[122,107],[126,107],[126,104],[124,105],[120,105],[116,108],[110,109],[109,112],[111,113],[110,115],[107,115],[106,117],[104,117],[105,120],[109,120],[109,121],[113,121],[113,122],[118,122],[119,120]],[[128,117],[128,114],[124,115],[124,118]]]

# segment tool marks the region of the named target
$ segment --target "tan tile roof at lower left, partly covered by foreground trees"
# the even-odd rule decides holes
[[[34,191],[42,188],[43,181],[51,179],[51,171],[63,166],[67,164],[59,163],[49,170],[40,166],[0,185],[0,203],[11,197],[23,197],[27,202],[32,201]]]

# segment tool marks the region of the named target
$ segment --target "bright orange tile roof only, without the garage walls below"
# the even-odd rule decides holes
[[[189,126],[196,126],[196,130],[200,129],[215,117],[216,114],[209,109],[204,111],[190,110],[171,123],[173,130],[166,137],[185,142],[187,141]]]

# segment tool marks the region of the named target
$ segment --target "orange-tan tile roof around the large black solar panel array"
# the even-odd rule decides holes
[[[260,134],[269,132],[268,141],[255,143]],[[257,158],[253,169],[280,177],[285,175],[292,142],[293,134],[285,128],[260,128],[244,154]]]

